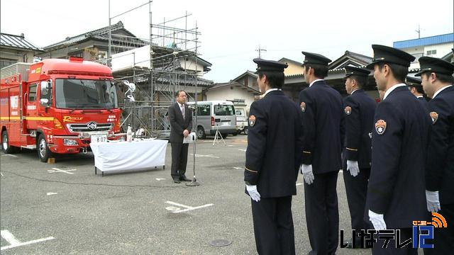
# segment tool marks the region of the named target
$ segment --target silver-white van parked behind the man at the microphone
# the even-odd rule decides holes
[[[195,108],[195,102],[188,102],[189,107]],[[196,123],[195,111],[192,111],[192,123]],[[206,135],[216,135],[219,130],[223,137],[236,134],[235,106],[231,101],[198,101],[197,102],[197,138],[205,139]]]

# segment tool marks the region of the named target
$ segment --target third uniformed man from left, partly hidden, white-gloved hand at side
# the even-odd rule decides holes
[[[352,229],[370,229],[365,222],[367,182],[370,176],[372,129],[377,104],[362,88],[367,83],[369,69],[345,67],[345,90],[350,96],[344,98],[345,142],[343,149],[343,181],[347,192]],[[361,246],[357,232],[348,248]]]

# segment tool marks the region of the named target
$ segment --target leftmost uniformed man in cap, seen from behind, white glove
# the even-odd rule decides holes
[[[244,180],[258,254],[295,254],[292,196],[301,160],[301,113],[281,91],[287,64],[255,59],[265,96],[252,103]]]

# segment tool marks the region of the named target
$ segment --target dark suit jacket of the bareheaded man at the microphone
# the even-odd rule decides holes
[[[172,104],[168,109],[169,121],[170,121],[170,142],[183,142],[183,131],[192,130],[192,111],[184,104],[184,115],[183,119],[182,111],[179,108],[178,103]]]

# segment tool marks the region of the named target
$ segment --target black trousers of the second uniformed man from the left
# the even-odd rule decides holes
[[[335,254],[339,244],[338,171],[314,174],[314,178],[311,185],[304,182],[309,254]]]

